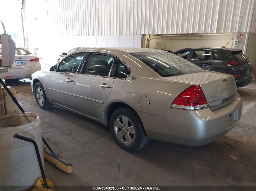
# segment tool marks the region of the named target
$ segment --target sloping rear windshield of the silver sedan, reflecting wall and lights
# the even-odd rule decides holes
[[[168,52],[131,53],[162,77],[191,74],[204,71],[197,65]]]

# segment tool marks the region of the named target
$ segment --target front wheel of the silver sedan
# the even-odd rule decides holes
[[[34,88],[35,100],[41,109],[47,110],[53,107],[53,104],[49,102],[46,97],[44,87],[41,82],[37,82]]]

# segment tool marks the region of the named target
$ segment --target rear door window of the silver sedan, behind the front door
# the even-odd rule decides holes
[[[90,54],[85,63],[83,74],[110,76],[113,57],[102,54]]]

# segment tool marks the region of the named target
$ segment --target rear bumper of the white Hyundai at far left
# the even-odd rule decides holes
[[[30,78],[34,72],[41,70],[41,65],[35,65],[31,68],[9,68],[9,72],[0,73],[0,77],[5,80],[17,78]],[[5,76],[11,76],[5,78]]]

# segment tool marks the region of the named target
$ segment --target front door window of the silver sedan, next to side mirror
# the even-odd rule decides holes
[[[58,72],[76,73],[86,53],[76,53],[62,60],[58,65]]]

